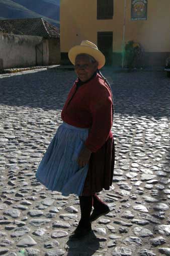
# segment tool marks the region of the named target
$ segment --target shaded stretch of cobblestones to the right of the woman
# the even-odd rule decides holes
[[[163,73],[115,74],[111,87],[115,113],[170,117],[170,83]]]

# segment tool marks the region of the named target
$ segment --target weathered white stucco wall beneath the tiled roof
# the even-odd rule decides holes
[[[39,36],[12,35],[0,32],[0,59],[3,59],[4,69],[35,66],[35,46],[42,40],[43,38]],[[48,56],[45,58],[47,59]]]

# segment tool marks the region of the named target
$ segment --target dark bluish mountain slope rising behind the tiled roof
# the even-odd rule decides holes
[[[24,2],[24,0],[22,2]],[[0,0],[0,17],[4,17],[4,19],[24,19],[42,17],[52,25],[59,27],[59,21],[57,21],[56,18],[55,20],[48,18],[42,14],[29,10],[23,5],[20,5],[12,0]]]

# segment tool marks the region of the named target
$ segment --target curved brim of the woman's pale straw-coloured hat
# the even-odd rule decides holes
[[[75,65],[75,57],[80,53],[86,53],[93,56],[99,63],[99,70],[105,65],[105,56],[100,50],[83,45],[76,45],[69,50],[68,57],[73,65]]]

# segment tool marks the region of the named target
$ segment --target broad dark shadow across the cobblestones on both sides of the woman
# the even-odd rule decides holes
[[[164,73],[107,73],[113,81],[115,113],[170,117],[170,86]],[[75,80],[74,71],[41,71],[0,79],[0,104],[62,109]]]

